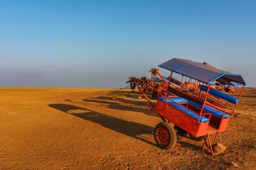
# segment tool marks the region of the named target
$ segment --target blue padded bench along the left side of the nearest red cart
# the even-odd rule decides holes
[[[183,98],[181,98],[181,99],[177,99],[177,98],[181,98],[181,97],[172,97],[172,98],[170,98],[170,99],[173,99],[173,101],[175,101],[175,100],[180,100],[181,101],[181,99],[183,99]],[[160,101],[164,101],[164,97],[159,97],[158,98]],[[183,99],[184,101],[185,101],[185,103],[186,102],[188,102],[188,101],[186,101],[185,99]],[[198,120],[198,118],[199,118],[199,115],[198,114],[196,114],[196,113],[194,113],[193,111],[190,111],[190,110],[188,110],[187,108],[185,108],[184,106],[180,106],[179,104],[177,104],[177,103],[174,103],[173,101],[170,101],[169,99],[165,99],[165,102],[166,103],[168,103],[168,104],[170,104],[171,106],[173,106],[174,108],[177,108],[178,110],[180,110],[180,111],[183,111],[184,113],[186,113],[186,114],[188,114],[188,115],[190,115],[191,117],[193,117],[193,118],[195,118],[196,120]],[[175,101],[176,102],[176,101]],[[204,123],[204,122],[209,122],[209,118],[206,118],[206,117],[204,117],[204,116],[201,116],[200,117],[200,122],[201,123]]]

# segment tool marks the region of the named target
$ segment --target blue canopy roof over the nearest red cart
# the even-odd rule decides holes
[[[241,74],[228,73],[227,71],[211,66],[207,62],[200,63],[186,59],[173,58],[160,64],[159,67],[208,84],[211,84],[213,81],[219,81],[226,85],[233,81],[246,85]]]

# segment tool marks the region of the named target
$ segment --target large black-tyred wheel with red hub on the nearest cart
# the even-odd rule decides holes
[[[173,148],[177,142],[177,134],[173,127],[170,127],[166,122],[161,122],[154,129],[154,138],[160,148]]]

